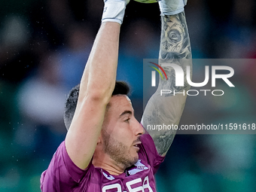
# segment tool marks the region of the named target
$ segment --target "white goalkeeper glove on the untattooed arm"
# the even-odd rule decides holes
[[[107,21],[123,23],[126,5],[130,0],[104,0],[102,23]]]

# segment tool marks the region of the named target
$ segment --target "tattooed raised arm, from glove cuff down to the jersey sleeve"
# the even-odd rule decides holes
[[[172,2],[172,0],[166,0],[165,2]],[[183,1],[181,0],[180,2]],[[160,66],[163,66],[163,63],[181,66],[185,77],[186,66],[190,66],[191,69],[192,58],[185,14],[183,10],[180,11],[178,14],[175,14],[174,11],[172,12],[174,15],[165,15],[166,13],[163,13],[163,9],[161,9],[162,31],[159,63]],[[147,129],[147,126],[163,125],[163,123],[165,125],[178,125],[187,97],[186,90],[190,89],[186,78],[184,78],[184,87],[175,86],[175,71],[172,67],[163,66],[163,69],[168,80],[160,79],[157,91],[149,99],[142,117],[142,125],[153,138],[157,151],[162,156],[166,155],[166,152],[172,145],[176,131],[150,130]],[[160,90],[171,90],[172,93],[160,96]]]

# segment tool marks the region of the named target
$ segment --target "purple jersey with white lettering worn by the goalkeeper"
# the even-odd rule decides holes
[[[120,175],[110,175],[90,162],[80,169],[67,154],[65,142],[59,145],[50,165],[41,175],[43,192],[155,192],[154,174],[164,157],[157,154],[153,139],[147,133],[140,137],[139,160]]]

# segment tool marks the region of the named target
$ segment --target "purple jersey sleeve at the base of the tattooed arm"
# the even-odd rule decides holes
[[[154,141],[148,132],[145,131],[145,133],[140,137],[140,140],[142,145],[139,153],[148,161],[148,164],[153,168],[153,172],[155,174],[159,169],[160,163],[163,163],[165,157],[158,154]]]

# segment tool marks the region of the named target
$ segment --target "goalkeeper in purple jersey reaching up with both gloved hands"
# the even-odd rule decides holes
[[[105,0],[102,25],[96,35],[81,84],[66,101],[68,133],[50,165],[41,175],[44,192],[156,191],[154,174],[175,136],[174,130],[156,132],[148,124],[178,124],[186,96],[160,96],[149,100],[141,123],[126,96],[129,87],[116,82],[120,25],[129,0]],[[172,62],[183,69],[191,65],[190,41],[183,0],[158,2],[161,11],[160,65]],[[172,68],[164,68],[168,81],[158,89],[175,87]]]

